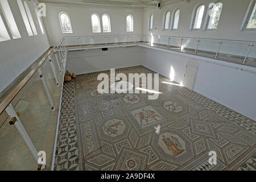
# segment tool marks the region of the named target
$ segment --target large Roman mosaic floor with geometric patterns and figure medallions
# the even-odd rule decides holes
[[[142,66],[116,72],[154,73]],[[55,170],[256,169],[255,121],[161,83],[170,82],[163,76],[157,100],[142,93],[99,94],[98,73],[64,84]],[[208,163],[209,151],[216,151],[216,165]]]

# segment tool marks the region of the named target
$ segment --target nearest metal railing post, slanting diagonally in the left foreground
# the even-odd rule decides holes
[[[9,104],[9,106],[6,107],[6,113],[11,117],[11,118],[16,118],[16,122],[14,123],[14,126],[18,130],[20,136],[23,138],[24,142],[26,143],[28,150],[32,153],[32,156],[36,160],[36,163],[42,162],[42,158],[38,155],[38,151],[36,150],[34,144],[32,143],[32,140],[27,134],[27,131],[24,129],[24,126],[22,125],[22,122],[20,121],[18,115],[16,114],[16,111],[14,110],[13,106]],[[45,164],[42,164],[41,169],[46,168]]]

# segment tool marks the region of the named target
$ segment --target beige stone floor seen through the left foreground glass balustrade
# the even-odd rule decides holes
[[[47,72],[48,68],[50,69]],[[59,74],[60,86],[57,87],[51,67],[44,67],[42,71],[46,73],[44,77],[56,110],[51,109],[38,73],[30,79],[11,104],[16,111],[20,111],[20,121],[36,150],[46,152],[46,170],[51,170],[63,73]],[[0,115],[0,171],[36,170],[37,161],[32,157],[16,127],[10,125],[6,117],[6,113]]]

